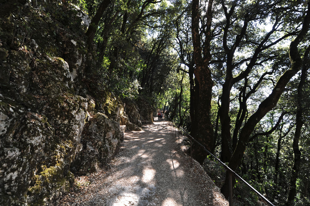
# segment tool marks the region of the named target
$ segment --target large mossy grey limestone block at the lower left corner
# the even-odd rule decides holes
[[[2,106],[11,104],[2,101]],[[0,194],[1,205],[51,205],[69,191],[74,176],[68,169],[80,142],[86,108],[82,97],[60,96],[52,98],[41,114],[18,106],[0,112],[2,120],[11,117],[1,122],[0,191],[6,194]]]

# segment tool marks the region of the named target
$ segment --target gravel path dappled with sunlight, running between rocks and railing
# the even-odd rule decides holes
[[[60,205],[229,205],[201,165],[178,150],[166,121],[127,132],[117,157],[77,177]]]

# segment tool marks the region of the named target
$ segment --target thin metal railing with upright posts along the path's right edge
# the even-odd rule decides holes
[[[200,142],[198,142],[196,139],[194,139],[183,127],[177,126],[175,124],[175,122],[173,122],[170,118],[168,118],[170,120],[171,124],[171,131],[173,131],[175,133],[175,138],[176,138],[176,128],[178,128],[178,136],[179,136],[179,149],[180,149],[180,129],[183,131],[183,133],[186,134],[187,137],[189,137],[190,139],[190,155],[191,155],[191,168],[193,166],[193,162],[192,162],[192,140],[194,142],[196,142],[199,146],[201,146],[206,152],[208,152],[212,157],[215,158],[215,160],[217,160],[219,163],[221,163],[225,170],[228,171],[228,177],[229,177],[229,205],[232,206],[232,190],[233,190],[233,184],[232,184],[232,175],[234,175],[236,178],[238,178],[240,181],[244,182],[251,190],[253,190],[257,195],[259,195],[259,197],[261,197],[263,200],[265,200],[269,205],[274,206],[274,204],[272,204],[269,200],[267,200],[266,197],[264,197],[262,194],[259,193],[259,191],[257,191],[254,187],[252,187],[248,182],[246,182],[244,179],[242,179],[235,171],[233,171],[232,169],[230,169],[227,165],[225,165],[225,163],[223,163],[222,161],[219,160],[219,158],[215,157],[211,152],[209,152],[205,146],[203,146]],[[167,128],[168,131],[168,128]]]

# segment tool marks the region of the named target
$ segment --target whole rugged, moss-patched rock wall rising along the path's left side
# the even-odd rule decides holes
[[[123,103],[88,86],[85,13],[58,1],[13,6],[0,15],[0,205],[55,205],[73,173],[117,152]]]

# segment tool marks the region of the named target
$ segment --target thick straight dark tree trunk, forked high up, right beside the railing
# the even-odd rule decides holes
[[[201,41],[199,33],[199,0],[193,0],[192,5],[192,39],[193,39],[193,58],[195,62],[195,117],[191,128],[191,135],[197,139],[207,150],[213,146],[213,127],[210,120],[211,97],[213,81],[211,71],[208,67],[211,59],[210,39],[212,21],[213,0],[209,0],[207,9],[207,31],[206,40],[203,45],[203,57],[201,56]],[[198,144],[193,144],[193,158],[202,163],[206,158],[207,152]]]

